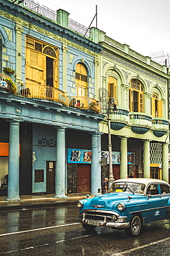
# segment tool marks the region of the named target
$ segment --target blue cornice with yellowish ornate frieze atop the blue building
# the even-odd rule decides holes
[[[30,12],[30,10],[27,8],[17,5],[14,6],[10,1],[6,1],[5,7],[0,3],[0,8],[6,10],[0,10],[0,16],[6,17],[11,21],[16,21],[22,26],[36,30],[43,35],[47,35],[48,37],[58,40],[59,42],[62,42],[62,39],[65,38],[67,44],[69,42],[68,45],[77,48],[80,51],[84,51],[87,54],[96,56],[102,50],[101,46],[92,42],[91,40],[78,35],[76,32],[70,29],[59,26],[59,24],[57,24],[55,21],[50,21],[41,15]],[[17,17],[14,17],[12,13],[15,13]],[[39,19],[37,19],[37,16]]]

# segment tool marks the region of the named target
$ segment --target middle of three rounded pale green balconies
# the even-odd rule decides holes
[[[151,116],[146,113],[129,113],[129,124],[131,130],[136,134],[145,134],[151,129]]]

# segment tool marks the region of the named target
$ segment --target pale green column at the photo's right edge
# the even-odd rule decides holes
[[[168,143],[162,147],[162,180],[169,183]]]

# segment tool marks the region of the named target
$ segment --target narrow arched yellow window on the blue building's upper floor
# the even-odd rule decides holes
[[[76,65],[76,95],[77,97],[87,96],[87,71],[81,63]]]

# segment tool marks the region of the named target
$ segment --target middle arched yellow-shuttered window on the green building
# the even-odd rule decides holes
[[[143,112],[143,89],[142,83],[136,79],[131,79],[129,89],[129,111]]]

